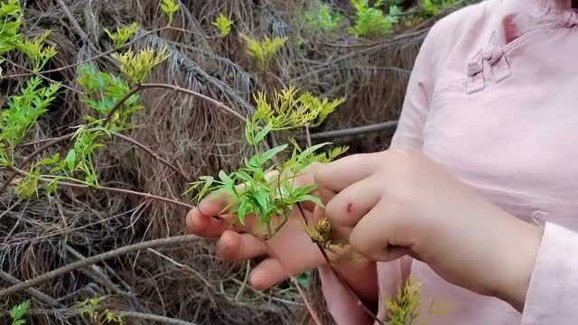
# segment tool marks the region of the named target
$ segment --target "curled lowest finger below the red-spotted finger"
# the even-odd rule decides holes
[[[380,200],[353,228],[350,245],[373,261],[396,260],[411,253],[413,238],[405,224],[403,214]]]

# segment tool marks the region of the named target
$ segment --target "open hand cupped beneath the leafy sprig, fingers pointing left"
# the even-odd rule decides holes
[[[301,184],[312,184],[312,174],[306,173],[298,179]],[[322,192],[323,190],[319,190]],[[332,193],[327,192],[322,197],[327,200]],[[263,257],[249,275],[249,283],[258,290],[264,290],[291,275],[301,274],[313,268],[326,265],[319,248],[313,244],[305,232],[305,224],[300,209],[294,209],[288,216],[287,222],[277,231],[266,244],[262,239],[254,237],[239,228],[231,227],[235,215],[225,213],[228,206],[226,198],[212,194],[202,200],[196,209],[192,209],[187,216],[187,229],[190,233],[202,237],[219,238],[217,241],[217,255],[224,260],[240,261]],[[315,224],[321,209],[314,209],[312,204],[303,204],[303,213],[308,223]],[[218,218],[219,217],[219,218]],[[247,216],[246,225],[252,234],[259,232],[254,227],[255,216]],[[277,217],[277,222],[279,221]],[[262,230],[262,229],[261,229]],[[330,254],[331,256],[331,254]],[[349,280],[351,287],[365,300],[377,300],[378,284],[375,263],[369,261],[348,263],[348,261],[334,261],[340,268],[341,274]]]

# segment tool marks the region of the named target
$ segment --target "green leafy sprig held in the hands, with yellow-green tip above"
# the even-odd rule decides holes
[[[319,153],[327,144],[316,144],[304,150],[294,144],[289,158],[280,163],[277,156],[284,153],[289,144],[262,151],[267,135],[276,130],[319,125],[343,102],[343,98],[315,98],[310,93],[299,95],[298,89],[289,88],[275,91],[271,98],[259,92],[255,102],[256,110],[247,120],[245,137],[256,154],[236,172],[220,171],[216,178],[203,176],[200,181],[193,182],[188,191],[197,190],[198,200],[210,192],[227,196],[229,209],[237,214],[239,224],[245,225],[246,216],[255,214],[258,228],[266,230],[266,237],[272,237],[283,227],[295,204],[312,201],[322,205],[321,200],[312,196],[315,187],[299,187],[295,185],[295,177],[311,163],[331,161],[345,149]]]

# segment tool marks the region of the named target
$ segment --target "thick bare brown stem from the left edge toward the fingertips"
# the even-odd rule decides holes
[[[139,251],[141,249],[149,248],[149,247],[153,248],[153,247],[161,247],[161,246],[176,246],[176,245],[188,244],[188,243],[191,243],[192,241],[196,241],[199,239],[200,239],[199,237],[194,236],[194,235],[186,235],[186,236],[148,240],[148,241],[136,243],[133,245],[119,247],[119,248],[114,249],[112,251],[108,251],[108,252],[101,253],[98,255],[90,256],[90,257],[87,257],[86,259],[82,259],[82,260],[70,263],[69,265],[61,266],[61,267],[54,269],[52,271],[49,271],[47,273],[38,275],[38,276],[34,277],[33,279],[26,280],[23,283],[14,284],[11,287],[0,290],[0,297],[4,297],[7,295],[22,292],[23,290],[26,290],[28,288],[32,288],[33,286],[37,286],[38,284],[50,281],[51,279],[53,279],[59,275],[67,274],[71,271],[74,271],[74,270],[80,268],[80,267],[93,265],[95,263],[105,261],[105,260],[110,259],[110,258],[114,258],[114,257],[121,256],[121,255],[126,255],[129,253]]]

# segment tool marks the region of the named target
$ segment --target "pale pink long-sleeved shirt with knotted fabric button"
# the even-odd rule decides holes
[[[569,0],[487,0],[436,23],[392,145],[423,151],[511,214],[545,222],[545,235],[523,314],[406,258],[378,265],[380,315],[411,272],[422,283],[418,323],[578,323],[577,129],[578,12]],[[322,283],[339,324],[369,323],[325,269]]]

